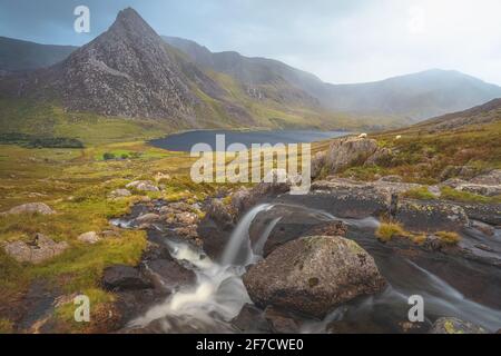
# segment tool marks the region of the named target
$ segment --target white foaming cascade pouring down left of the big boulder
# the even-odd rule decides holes
[[[196,283],[176,290],[163,304],[132,320],[130,326],[146,326],[161,318],[166,333],[178,327],[179,323],[209,330],[230,330],[225,323],[237,316],[244,304],[252,303],[242,281],[245,266],[255,259],[248,228],[256,215],[269,207],[257,206],[242,218],[228,240],[222,264],[213,261],[188,244],[167,241],[171,256],[191,266]]]

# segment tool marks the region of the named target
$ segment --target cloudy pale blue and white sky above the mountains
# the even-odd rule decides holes
[[[90,32],[77,33],[77,6]],[[132,7],[159,33],[333,83],[440,68],[501,85],[500,0],[0,0],[0,36],[84,44]]]

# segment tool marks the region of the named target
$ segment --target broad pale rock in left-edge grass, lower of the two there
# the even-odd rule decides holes
[[[42,234],[37,234],[30,244],[24,241],[8,243],[3,246],[3,249],[19,263],[37,265],[62,254],[68,247],[69,245],[66,241],[56,243]]]

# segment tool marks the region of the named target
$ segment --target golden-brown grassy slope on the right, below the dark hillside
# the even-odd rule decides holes
[[[399,140],[397,135],[402,136]],[[393,156],[376,166],[350,167],[341,176],[375,180],[397,175],[405,182],[434,185],[443,180],[442,172],[448,167],[465,166],[473,175],[501,169],[501,120],[456,131],[430,134],[410,128],[370,137],[376,139],[380,147],[391,148]],[[315,144],[312,151],[326,150],[328,145],[328,141]]]

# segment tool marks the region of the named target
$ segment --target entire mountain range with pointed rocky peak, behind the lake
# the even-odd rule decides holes
[[[381,128],[460,111],[501,87],[444,70],[331,85],[283,62],[160,37],[132,9],[81,48],[0,38],[0,92],[176,127]]]

